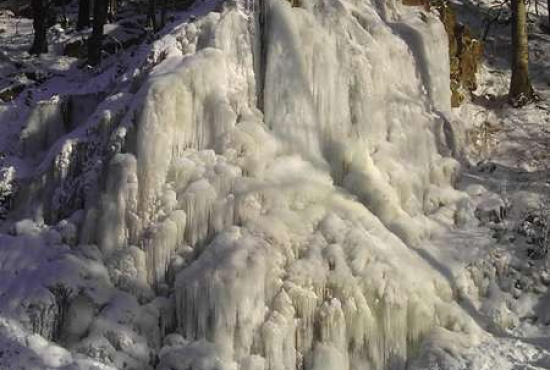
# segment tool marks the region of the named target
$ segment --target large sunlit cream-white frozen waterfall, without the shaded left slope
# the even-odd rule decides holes
[[[293,5],[226,2],[159,42],[77,224],[161,328],[96,319],[90,356],[147,363],[147,342],[158,369],[404,369],[434,327],[475,334],[417,253],[458,170],[443,25],[394,1]],[[40,149],[59,135],[36,122]]]

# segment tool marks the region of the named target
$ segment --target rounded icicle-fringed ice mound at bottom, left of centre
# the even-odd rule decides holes
[[[211,340],[223,358],[250,354],[265,315],[267,251],[233,227],[178,275],[178,325],[187,338]]]

